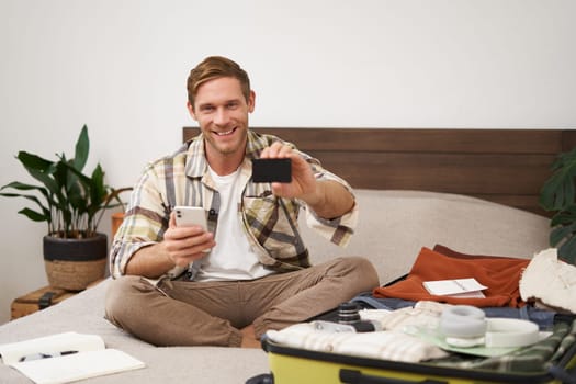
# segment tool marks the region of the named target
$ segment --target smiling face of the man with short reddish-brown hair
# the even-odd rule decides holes
[[[231,77],[206,81],[199,87],[194,105],[188,105],[205,137],[206,156],[244,158],[248,114],[255,109],[255,94],[246,101],[240,81]]]

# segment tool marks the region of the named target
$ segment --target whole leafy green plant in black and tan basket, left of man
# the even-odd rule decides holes
[[[89,149],[84,125],[70,159],[63,153],[50,161],[21,150],[16,159],[39,183],[13,181],[0,189],[2,196],[23,197],[36,205],[19,213],[47,223],[43,248],[48,282],[69,291],[83,290],[105,275],[108,238],[98,226],[104,211],[122,204],[118,194],[129,189],[106,185],[100,163],[90,174],[83,173]]]

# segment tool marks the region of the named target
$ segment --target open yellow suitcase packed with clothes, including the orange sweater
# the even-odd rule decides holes
[[[421,285],[430,278],[456,279],[462,272],[456,274],[453,267],[447,268],[449,262],[438,262],[436,259],[443,258],[444,255],[436,252],[437,250],[443,251],[451,258],[467,260],[466,262],[448,260],[451,261],[451,266],[456,263],[462,266],[460,271],[470,271],[470,273],[464,273],[464,278],[476,276],[474,274],[476,270],[483,273],[488,271],[489,273],[485,273],[487,279],[484,275],[477,275],[478,280],[482,284],[498,289],[487,292],[486,300],[473,298],[467,300],[468,303],[464,304],[482,307],[487,323],[498,324],[499,320],[495,319],[500,318],[509,319],[504,323],[512,325],[515,321],[518,321],[519,325],[522,321],[529,323],[532,330],[530,330],[531,334],[527,331],[526,335],[527,337],[530,335],[532,339],[523,340],[523,337],[516,335],[513,339],[517,346],[512,346],[513,348],[495,348],[489,345],[488,340],[493,336],[486,330],[479,338],[483,340],[483,346],[458,348],[458,343],[455,347],[449,343],[443,332],[445,329],[439,326],[439,321],[445,309],[442,306],[450,306],[450,304],[436,302],[434,298],[438,297],[427,293]],[[506,270],[506,273],[501,273],[504,278],[508,276],[507,280],[502,278],[507,285],[501,283],[502,279],[496,282],[490,281],[499,276],[496,272],[505,270],[501,268],[502,262],[509,263],[508,267],[511,267],[515,272],[510,273]],[[478,266],[482,268],[477,268]],[[437,249],[437,247],[434,251],[422,249],[409,274],[353,300],[362,308],[388,310],[392,316],[380,319],[384,331],[365,332],[358,337],[350,336],[350,334],[338,335],[340,329],[335,331],[335,336],[306,332],[306,327],[327,330],[334,327],[325,324],[338,325],[341,323],[338,309],[281,331],[268,331],[262,339],[262,347],[268,352],[271,373],[252,377],[247,383],[576,384],[574,312],[565,314],[541,309],[522,302],[518,294],[518,281],[524,267],[526,262],[522,264],[513,258],[456,255],[450,249]],[[432,275],[430,275],[431,272],[433,272]],[[454,275],[451,275],[452,273]],[[511,275],[513,279],[510,278]],[[391,292],[392,297],[388,295]],[[398,292],[402,295],[408,292],[409,298],[396,295]],[[566,292],[563,294],[565,295]],[[444,300],[445,297],[441,298],[440,302],[449,302]],[[452,302],[453,306],[462,305],[461,300],[452,300]],[[478,307],[473,308],[475,312],[481,312]],[[430,319],[428,323],[434,320],[437,323],[428,324],[425,320],[414,326],[410,316],[418,310],[423,312],[425,318]],[[434,310],[436,318],[426,317],[427,314]],[[538,338],[533,338],[534,329],[537,332],[540,330]],[[513,328],[508,327],[508,330],[515,332]],[[360,331],[359,328],[357,331]],[[545,331],[549,334],[544,335]],[[497,334],[494,329],[492,332]],[[410,337],[413,339],[409,339]],[[455,338],[456,341],[458,339],[459,337]],[[439,351],[443,351],[443,354]]]

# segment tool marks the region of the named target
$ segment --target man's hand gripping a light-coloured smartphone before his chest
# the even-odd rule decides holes
[[[176,206],[165,233],[165,247],[169,258],[179,267],[201,259],[216,246],[208,233],[206,215],[202,207]]]

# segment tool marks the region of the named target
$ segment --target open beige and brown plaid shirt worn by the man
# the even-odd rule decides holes
[[[246,157],[240,166],[245,185],[238,206],[240,223],[259,261],[278,272],[309,267],[308,250],[298,231],[298,211],[305,203],[276,197],[270,183],[251,181],[251,159],[280,138],[248,131]],[[285,142],[283,142],[285,143]],[[291,145],[296,151],[294,145]],[[335,180],[350,185],[321,168],[318,160],[297,151],[310,165],[317,180]],[[207,170],[202,134],[185,143],[176,154],[148,165],[133,190],[126,216],[112,244],[110,268],[114,278],[125,273],[129,258],[140,248],[162,241],[170,212],[176,205],[202,206],[208,213],[208,230],[217,230],[219,194]],[[339,246],[346,246],[358,221],[358,206],[341,217],[325,219],[306,210],[306,224]],[[165,276],[174,279],[194,266],[174,267]],[[162,276],[162,278],[165,278]]]

